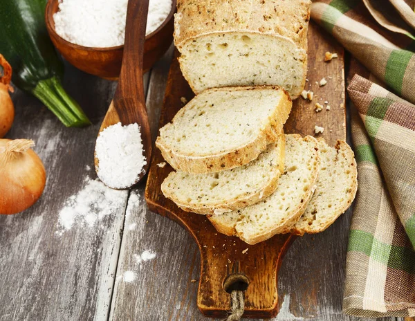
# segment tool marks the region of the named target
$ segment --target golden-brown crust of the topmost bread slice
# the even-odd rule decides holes
[[[163,141],[161,136],[158,136],[156,146],[160,149],[161,154],[167,163],[174,169],[193,174],[221,172],[226,169],[232,169],[249,163],[251,160],[257,158],[259,154],[266,149],[268,144],[274,143],[282,133],[282,127],[291,111],[292,101],[290,96],[281,87],[270,85],[224,87],[204,91],[204,93],[209,93],[214,91],[257,91],[264,89],[282,90],[284,95],[282,95],[279,104],[275,107],[273,115],[270,116],[268,126],[266,126],[259,136],[250,143],[237,149],[231,149],[220,154],[206,156],[195,156],[189,153],[176,152],[171,146]],[[176,117],[180,117],[180,111],[173,118],[173,122]],[[284,119],[284,122],[281,122],[281,119]]]

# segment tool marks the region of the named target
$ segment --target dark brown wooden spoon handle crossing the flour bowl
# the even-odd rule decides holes
[[[149,0],[129,0],[125,24],[124,53],[114,100],[136,98],[145,109],[142,68]]]

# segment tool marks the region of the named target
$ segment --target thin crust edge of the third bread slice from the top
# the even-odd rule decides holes
[[[313,196],[314,190],[315,190],[315,183],[317,181],[318,172],[320,170],[320,149],[318,148],[318,142],[315,138],[312,136],[306,136],[302,138],[302,136],[298,134],[291,135],[296,139],[303,139],[304,141],[307,141],[309,143],[314,143],[315,145],[315,156],[317,165],[313,169],[313,181],[311,181],[311,188],[304,194],[303,202],[299,203],[295,210],[293,210],[290,217],[287,217],[284,223],[280,224],[279,226],[273,226],[270,228],[270,230],[266,232],[257,233],[255,236],[247,237],[246,235],[243,235],[243,231],[238,231],[237,229],[237,222],[232,226],[225,226],[221,224],[219,221],[215,221],[214,217],[209,216],[208,219],[213,224],[213,226],[216,228],[218,232],[221,232],[228,236],[237,236],[243,241],[245,241],[247,244],[254,245],[261,241],[266,241],[267,239],[270,239],[270,237],[273,237],[276,234],[282,234],[285,232],[288,232],[291,230],[293,224],[295,224],[298,219],[302,216],[304,211],[306,210],[306,207],[308,205],[308,202],[311,200],[311,196]]]

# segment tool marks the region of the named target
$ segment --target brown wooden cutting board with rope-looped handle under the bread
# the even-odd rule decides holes
[[[338,53],[338,58],[324,62],[324,53]],[[160,127],[170,122],[176,112],[183,107],[182,98],[187,101],[194,93],[181,74],[174,55],[167,80],[167,89],[163,109],[160,115]],[[327,84],[319,86],[316,82],[325,77]],[[306,89],[314,92],[312,102],[298,98],[293,102],[290,118],[284,127],[287,134],[313,135],[314,126],[324,127],[324,137],[331,145],[338,139],[346,138],[346,113],[344,104],[344,53],[342,47],[326,34],[320,27],[311,23],[308,31],[308,82]],[[319,113],[315,112],[315,103],[327,105]],[[316,136],[317,137],[317,136]],[[163,162],[158,149],[154,149],[153,159],[147,179],[145,199],[150,210],[176,221],[183,226],[199,245],[201,252],[201,276],[197,306],[204,314],[223,318],[230,310],[230,295],[224,290],[227,277],[234,273],[243,275],[234,286],[249,285],[245,291],[245,317],[273,318],[278,312],[277,273],[282,257],[290,244],[293,235],[276,235],[268,241],[250,246],[237,237],[227,237],[216,232],[212,224],[203,215],[184,212],[172,201],[166,199],[160,185],[172,171]],[[157,231],[154,231],[157,233]],[[163,235],[160,235],[163,237]],[[168,240],[167,240],[168,241]],[[301,271],[293,270],[293,273]]]

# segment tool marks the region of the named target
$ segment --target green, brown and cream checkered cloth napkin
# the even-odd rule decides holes
[[[311,17],[366,68],[351,68],[359,189],[344,313],[415,315],[415,1],[315,1]],[[367,71],[368,70],[368,71]],[[393,92],[393,93],[392,93]]]

